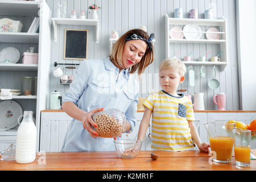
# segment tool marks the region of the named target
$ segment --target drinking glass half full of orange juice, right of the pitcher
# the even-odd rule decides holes
[[[236,166],[250,166],[251,130],[233,130]]]

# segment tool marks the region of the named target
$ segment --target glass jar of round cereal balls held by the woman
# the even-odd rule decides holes
[[[125,114],[118,109],[108,109],[94,113],[92,118],[97,125],[97,127],[93,127],[97,137],[120,137],[126,131]]]

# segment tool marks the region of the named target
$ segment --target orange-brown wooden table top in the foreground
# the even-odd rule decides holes
[[[256,155],[256,150],[252,150]],[[256,171],[256,160],[250,167],[235,166],[234,156],[228,164],[209,163],[210,156],[200,151],[154,151],[158,160],[150,158],[151,151],[141,151],[134,159],[122,159],[115,151],[108,152],[46,152],[28,164],[15,160],[0,161],[0,170],[96,170],[96,171]],[[44,160],[45,159],[45,160]]]

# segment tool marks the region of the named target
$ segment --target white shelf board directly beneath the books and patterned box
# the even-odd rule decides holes
[[[0,42],[38,44],[38,41],[39,41],[38,33],[0,32]]]

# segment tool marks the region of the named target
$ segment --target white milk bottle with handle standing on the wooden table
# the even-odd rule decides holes
[[[33,112],[24,111],[23,120],[17,131],[15,160],[17,163],[25,164],[34,162],[35,158],[36,126]]]

